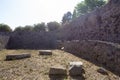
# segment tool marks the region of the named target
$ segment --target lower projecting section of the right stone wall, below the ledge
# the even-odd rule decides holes
[[[98,40],[68,41],[64,49],[120,74],[120,45]]]

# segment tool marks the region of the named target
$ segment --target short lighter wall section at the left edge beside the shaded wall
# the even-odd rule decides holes
[[[0,35],[0,50],[5,49],[9,41],[9,36]]]

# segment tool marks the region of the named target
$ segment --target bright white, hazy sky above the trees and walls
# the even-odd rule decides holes
[[[82,0],[0,0],[0,23],[12,29],[41,22],[61,22]]]

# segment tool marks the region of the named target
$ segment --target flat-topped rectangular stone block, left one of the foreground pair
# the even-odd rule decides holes
[[[52,66],[49,75],[67,75],[67,70],[63,66]]]

